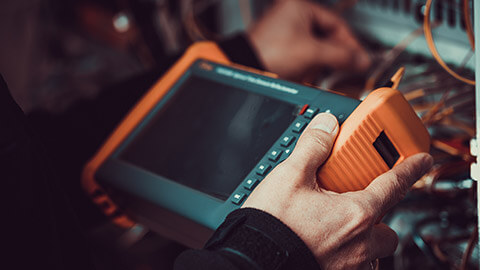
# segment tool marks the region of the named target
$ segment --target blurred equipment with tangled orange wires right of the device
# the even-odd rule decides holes
[[[476,158],[469,147],[476,136],[472,4],[357,1],[345,10],[376,62],[362,95],[404,66],[399,90],[432,136],[434,168],[383,220],[400,244],[380,269],[479,267],[477,182],[470,178]]]

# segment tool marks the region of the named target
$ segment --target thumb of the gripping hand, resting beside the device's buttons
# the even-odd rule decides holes
[[[285,161],[305,172],[315,173],[330,154],[338,122],[330,113],[320,113],[307,126],[291,156]]]

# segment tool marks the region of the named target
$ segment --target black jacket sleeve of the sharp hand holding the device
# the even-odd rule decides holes
[[[175,270],[319,269],[305,243],[274,216],[238,209],[227,216],[202,250],[183,252]]]

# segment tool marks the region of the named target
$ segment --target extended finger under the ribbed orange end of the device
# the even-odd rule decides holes
[[[432,156],[427,153],[413,155],[377,177],[357,195],[379,217],[405,197],[410,186],[432,167],[432,163]]]

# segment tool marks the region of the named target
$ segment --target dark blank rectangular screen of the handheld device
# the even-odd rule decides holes
[[[190,76],[120,158],[225,200],[295,114],[293,104]]]

